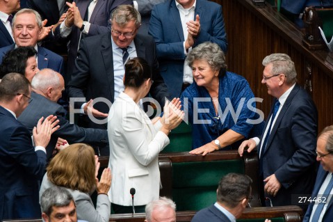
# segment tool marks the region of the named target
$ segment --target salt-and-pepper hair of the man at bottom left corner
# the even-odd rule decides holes
[[[67,207],[72,201],[74,202],[73,196],[64,187],[50,187],[40,197],[40,208],[50,216],[52,207]]]

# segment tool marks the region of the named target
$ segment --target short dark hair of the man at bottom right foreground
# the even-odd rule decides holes
[[[240,173],[228,173],[218,183],[218,202],[228,207],[236,207],[243,198],[251,195],[252,180]]]

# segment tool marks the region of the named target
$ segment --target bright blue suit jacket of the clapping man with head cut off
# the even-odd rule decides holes
[[[227,34],[222,6],[206,0],[197,0],[195,15],[200,16],[200,34],[196,47],[202,42],[215,42],[227,51]],[[193,18],[195,19],[195,17]],[[171,97],[179,97],[184,76],[184,32],[175,1],[154,6],[149,22],[149,34],[154,37],[161,75]]]

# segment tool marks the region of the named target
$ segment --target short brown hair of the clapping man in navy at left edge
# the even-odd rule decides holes
[[[13,100],[17,94],[30,94],[30,82],[24,75],[11,72],[6,74],[0,81],[0,101]]]

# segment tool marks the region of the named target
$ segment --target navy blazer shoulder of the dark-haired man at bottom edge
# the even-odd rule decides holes
[[[216,208],[214,205],[210,207],[204,208],[197,212],[193,216],[191,222],[202,222],[202,221],[209,221],[209,222],[232,222],[229,220],[225,214],[223,214],[220,209]]]

